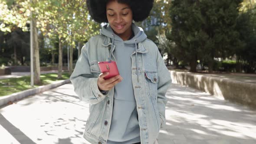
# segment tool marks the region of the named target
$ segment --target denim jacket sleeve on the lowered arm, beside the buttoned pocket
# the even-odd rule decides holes
[[[157,56],[157,68],[158,68],[158,111],[161,118],[161,128],[163,128],[166,123],[165,119],[165,105],[167,103],[167,98],[165,96],[167,89],[171,85],[171,73],[164,64],[164,59],[162,58],[159,50]]]

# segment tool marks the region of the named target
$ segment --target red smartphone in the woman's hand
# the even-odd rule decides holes
[[[119,71],[115,61],[98,62],[99,69],[102,73],[109,72],[104,79],[110,79],[116,75],[119,75]]]

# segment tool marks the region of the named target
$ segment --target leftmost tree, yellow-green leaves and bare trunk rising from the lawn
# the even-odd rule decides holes
[[[8,3],[7,3],[8,2]],[[1,18],[0,29],[3,32],[11,32],[18,27],[22,28],[23,31],[28,31],[26,27],[27,20],[30,20],[30,10],[33,9],[33,3],[30,3],[28,0],[10,0],[5,1],[1,0],[0,11]],[[39,62],[39,48],[38,48],[38,39],[37,39],[37,27],[36,19],[32,16],[33,25],[33,63],[34,63],[34,82],[35,84],[40,83],[40,62]],[[16,54],[14,54],[16,57]],[[16,58],[15,58],[16,59]]]

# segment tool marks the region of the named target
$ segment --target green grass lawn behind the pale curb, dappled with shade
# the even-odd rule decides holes
[[[62,73],[62,79],[57,79],[57,76],[58,74],[56,73],[40,75],[41,83],[39,85],[35,85],[34,88],[40,85],[47,85],[58,80],[69,79],[68,72]],[[12,93],[21,92],[30,88],[32,88],[30,86],[30,76],[0,80],[0,96],[10,95]]]

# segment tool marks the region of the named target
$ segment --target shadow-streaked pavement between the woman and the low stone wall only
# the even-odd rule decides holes
[[[255,111],[176,84],[166,96],[167,121],[160,130],[160,144],[256,143]]]

